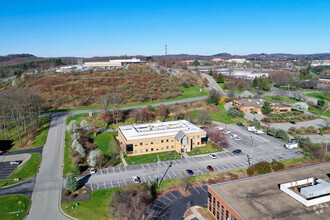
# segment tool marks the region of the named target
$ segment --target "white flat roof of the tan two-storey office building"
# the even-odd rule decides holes
[[[204,130],[186,120],[124,125],[118,126],[118,129],[127,141],[175,136],[180,131],[185,134],[204,132]]]

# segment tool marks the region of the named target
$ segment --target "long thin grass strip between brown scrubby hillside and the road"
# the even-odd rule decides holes
[[[121,105],[121,108],[124,107],[134,107],[134,106],[140,106],[140,105],[149,105],[149,104],[157,104],[162,102],[170,102],[170,101],[177,101],[181,99],[188,99],[188,98],[194,98],[194,97],[201,97],[201,96],[207,96],[208,91],[203,89],[203,92],[200,92],[200,89],[202,87],[200,86],[192,86],[189,88],[182,88],[182,96],[178,96],[176,98],[172,99],[165,99],[165,100],[156,100],[156,101],[150,101],[150,102],[134,102],[134,103],[128,103],[125,105]],[[111,107],[111,106],[109,106]],[[92,109],[101,109],[101,106],[94,105],[94,106],[83,106],[78,108],[72,108],[72,109],[58,109],[58,110],[52,110],[50,112],[66,112],[66,111],[79,111],[79,110],[92,110]]]

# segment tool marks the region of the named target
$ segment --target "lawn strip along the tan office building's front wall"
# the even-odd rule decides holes
[[[125,157],[125,160],[128,165],[135,165],[135,164],[141,164],[141,163],[153,163],[157,162],[157,155],[159,155],[159,159],[161,161],[166,160],[175,160],[179,159],[179,153],[176,151],[166,151],[166,152],[160,152],[160,153],[153,153],[153,154],[145,154],[145,155],[138,155],[138,156],[130,156]]]

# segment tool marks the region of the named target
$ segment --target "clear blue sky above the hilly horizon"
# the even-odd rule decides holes
[[[1,1],[0,55],[330,52],[330,0]]]

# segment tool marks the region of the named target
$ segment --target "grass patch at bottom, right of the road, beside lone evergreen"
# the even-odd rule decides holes
[[[111,188],[93,191],[91,200],[80,201],[79,206],[75,206],[76,202],[62,203],[61,208],[66,214],[77,219],[107,220],[110,218],[109,201],[114,193],[120,190],[121,188]]]

